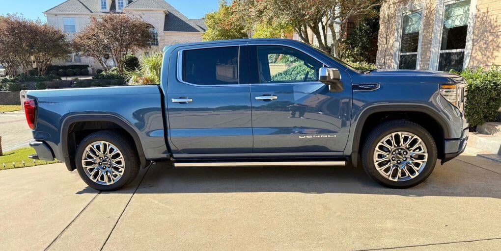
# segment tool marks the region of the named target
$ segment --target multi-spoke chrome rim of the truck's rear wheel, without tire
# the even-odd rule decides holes
[[[117,182],[124,174],[125,160],[122,152],[112,143],[96,141],[85,148],[82,166],[92,181],[110,185]]]

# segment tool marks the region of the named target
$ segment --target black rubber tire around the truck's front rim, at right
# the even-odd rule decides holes
[[[414,178],[404,181],[394,181],[383,176],[376,169],[373,159],[379,141],[392,132],[398,131],[411,132],[419,136],[428,151],[428,159],[424,168]],[[421,125],[407,120],[391,120],[383,122],[372,129],[364,141],[361,159],[364,170],[378,183],[391,188],[408,188],[423,182],[431,174],[437,160],[437,147],[431,134]]]

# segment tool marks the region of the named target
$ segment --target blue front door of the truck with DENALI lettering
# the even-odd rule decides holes
[[[286,45],[249,46],[254,152],[343,151],[350,86],[331,92],[316,58]]]

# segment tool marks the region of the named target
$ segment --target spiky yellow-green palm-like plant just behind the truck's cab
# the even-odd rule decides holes
[[[139,68],[126,73],[128,84],[159,84],[163,55],[156,52],[139,57]]]

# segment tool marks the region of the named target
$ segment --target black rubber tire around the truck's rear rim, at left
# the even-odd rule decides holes
[[[84,171],[82,165],[82,155],[84,154],[85,148],[95,141],[107,141],[115,145],[124,157],[124,173],[120,179],[112,184],[99,184],[90,179]],[[140,169],[140,161],[135,149],[134,143],[123,134],[113,131],[113,130],[101,130],[86,136],[78,145],[77,152],[75,154],[75,163],[77,166],[78,173],[80,177],[87,183],[90,187],[100,190],[100,191],[112,191],[123,187],[124,185],[132,182]]]

